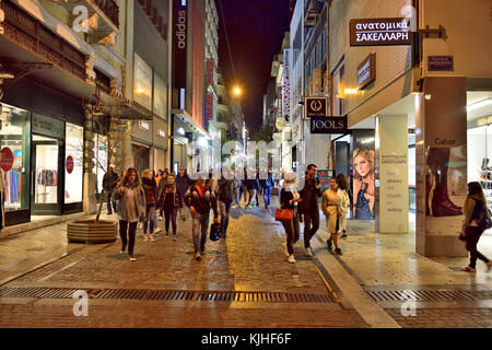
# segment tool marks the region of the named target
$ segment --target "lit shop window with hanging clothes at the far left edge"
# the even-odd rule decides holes
[[[5,211],[28,209],[30,206],[30,131],[27,110],[0,104],[0,149],[12,154],[9,171],[2,172],[7,186]]]

